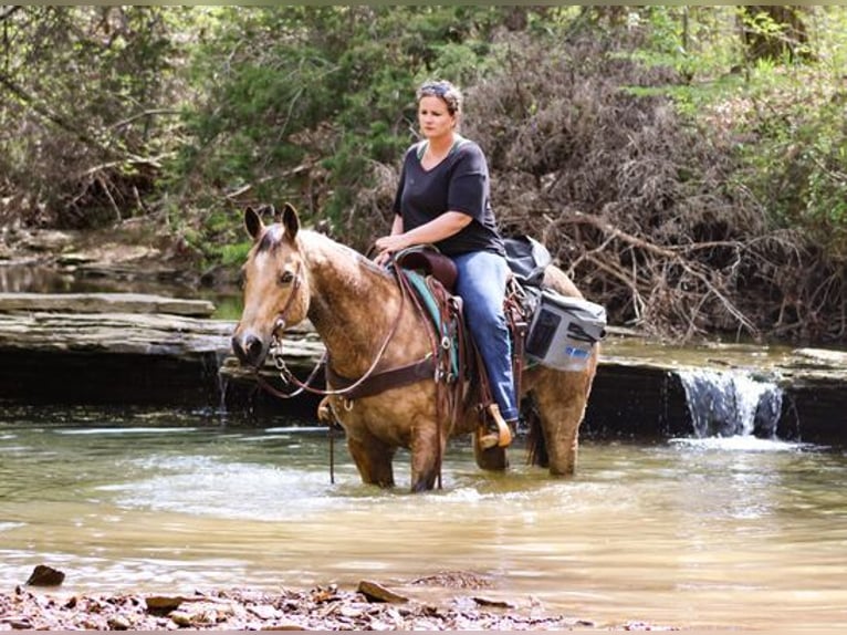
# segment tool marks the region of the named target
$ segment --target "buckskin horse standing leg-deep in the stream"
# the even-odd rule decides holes
[[[244,308],[232,336],[239,361],[258,371],[272,344],[281,346],[284,330],[309,319],[326,351],[327,396],[318,410],[323,416],[332,412],[344,428],[362,480],[394,487],[393,459],[398,448],[406,448],[411,490],[432,489],[437,477],[440,485],[448,437],[479,427],[473,404],[464,399],[458,414],[446,417],[432,375],[356,399],[345,396],[343,385],[333,385],[333,377],[364,378],[431,355],[427,330],[433,327],[404,296],[395,275],[354,249],[301,228],[289,204],[270,225],[248,208],[244,226],[253,246],[242,268]],[[552,264],[544,284],[564,295],[582,296]],[[579,425],[597,364],[598,345],[593,348],[583,371],[527,365],[521,373],[521,396],[531,397],[535,406],[529,460],[546,466],[553,476],[572,476],[576,470]],[[473,438],[480,468],[508,467],[505,448],[483,449],[479,435]]]

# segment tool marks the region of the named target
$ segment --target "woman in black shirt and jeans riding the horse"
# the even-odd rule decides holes
[[[376,261],[385,263],[391,253],[416,244],[435,244],[456,263],[456,292],[498,406],[491,408],[494,426],[480,441],[504,447],[511,434],[503,419],[514,429],[519,412],[503,313],[509,266],[491,209],[488,163],[480,147],[458,133],[462,96],[456,86],[427,82],[417,102],[423,139],[406,152],[391,233],[377,239]]]

